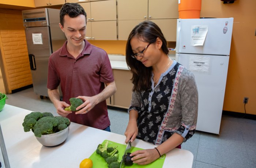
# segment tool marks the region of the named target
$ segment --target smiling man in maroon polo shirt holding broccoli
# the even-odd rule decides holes
[[[106,99],[116,92],[116,84],[106,51],[84,39],[86,23],[86,12],[81,5],[65,3],[61,7],[59,26],[67,41],[49,58],[48,95],[59,115],[110,131]],[[63,101],[60,101],[59,84]],[[83,100],[76,108],[78,111],[64,110],[70,98]]]

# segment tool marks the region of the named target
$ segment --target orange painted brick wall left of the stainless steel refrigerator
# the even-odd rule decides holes
[[[0,49],[7,93],[32,84],[21,11],[0,9]]]

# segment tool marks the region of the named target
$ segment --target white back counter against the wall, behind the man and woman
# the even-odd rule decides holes
[[[125,61],[125,56],[112,54],[109,54],[108,56],[112,69],[129,70],[128,65]],[[170,54],[169,57],[175,60],[175,55]]]

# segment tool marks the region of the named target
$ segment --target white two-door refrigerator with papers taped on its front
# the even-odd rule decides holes
[[[233,18],[177,19],[176,60],[198,88],[196,130],[219,134],[232,27]]]

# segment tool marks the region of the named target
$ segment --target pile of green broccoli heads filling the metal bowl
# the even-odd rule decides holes
[[[36,137],[57,133],[68,127],[70,121],[66,117],[54,117],[50,112],[31,112],[24,118],[22,126],[25,132],[32,130]]]

